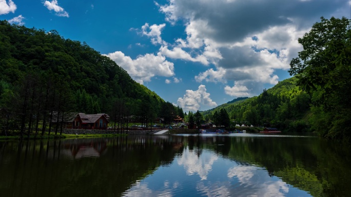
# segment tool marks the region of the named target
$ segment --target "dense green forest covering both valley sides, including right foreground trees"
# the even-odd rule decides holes
[[[147,126],[156,117],[171,124],[176,115],[186,115],[192,125],[204,120],[225,127],[252,124],[350,142],[350,24],[344,17],[322,17],[298,39],[303,51],[290,62],[293,77],[259,96],[184,114],[85,42],[0,21],[1,133],[36,135],[54,128],[57,134],[67,114],[80,112],[107,113],[118,129],[131,121],[126,117]]]

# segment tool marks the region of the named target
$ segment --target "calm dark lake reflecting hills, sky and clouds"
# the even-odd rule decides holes
[[[313,136],[0,141],[0,196],[350,196],[350,155]]]

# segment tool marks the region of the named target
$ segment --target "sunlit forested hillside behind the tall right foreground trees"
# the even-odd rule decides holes
[[[224,108],[236,124],[275,126],[287,132],[307,131],[310,97],[297,86],[296,81],[296,77],[285,79],[271,89],[263,90],[257,97],[223,104],[203,112],[203,115],[212,119],[214,112]]]

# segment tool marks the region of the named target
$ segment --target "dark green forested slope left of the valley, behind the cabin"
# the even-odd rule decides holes
[[[118,128],[132,115],[146,126],[156,117],[166,124],[184,117],[182,108],[136,83],[110,58],[55,30],[0,20],[0,73],[2,134],[44,134],[52,127],[57,134],[69,113],[106,113]]]

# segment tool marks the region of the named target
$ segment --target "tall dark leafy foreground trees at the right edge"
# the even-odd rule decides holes
[[[351,20],[321,17],[299,43],[303,51],[291,60],[289,73],[312,96],[312,128],[320,136],[350,142]]]

